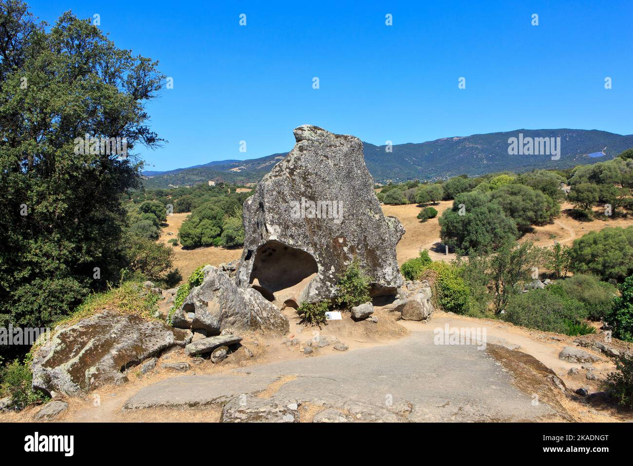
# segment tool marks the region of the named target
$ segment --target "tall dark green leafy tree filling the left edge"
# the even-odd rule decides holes
[[[0,23],[0,326],[40,327],[135,267],[122,196],[137,146],[160,144],[145,106],[163,76],[70,12],[47,30],[11,0]],[[127,154],[85,150],[86,134]]]

